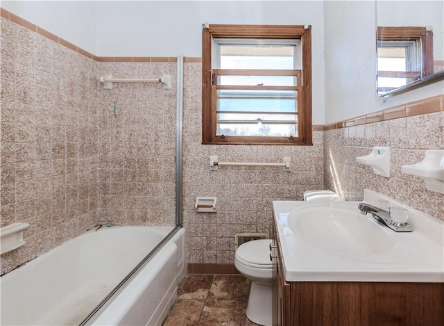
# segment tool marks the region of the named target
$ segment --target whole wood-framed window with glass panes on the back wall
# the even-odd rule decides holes
[[[310,26],[203,28],[203,144],[311,145]]]

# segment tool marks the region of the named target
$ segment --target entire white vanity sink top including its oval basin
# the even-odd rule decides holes
[[[364,192],[366,202],[376,199],[389,198]],[[358,205],[273,202],[287,281],[444,282],[443,221],[409,209],[413,231],[395,232]]]

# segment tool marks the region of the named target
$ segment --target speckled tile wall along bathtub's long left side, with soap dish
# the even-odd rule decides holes
[[[1,17],[1,226],[28,222],[1,274],[94,226],[97,63]]]

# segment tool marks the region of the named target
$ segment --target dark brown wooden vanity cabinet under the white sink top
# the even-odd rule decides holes
[[[442,326],[444,283],[286,282],[273,223],[273,326]]]

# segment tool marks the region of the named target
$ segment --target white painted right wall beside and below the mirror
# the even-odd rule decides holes
[[[382,99],[376,95],[375,1],[325,1],[325,123],[441,95],[444,81]]]

